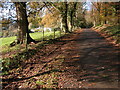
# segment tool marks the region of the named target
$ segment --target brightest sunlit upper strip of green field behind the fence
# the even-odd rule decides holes
[[[56,38],[60,36],[59,31],[56,31]],[[45,32],[44,33],[44,37],[45,39],[53,39],[54,32]],[[35,39],[35,40],[42,40],[43,38],[43,34],[42,32],[35,32],[35,33],[30,33],[30,36]],[[12,36],[12,37],[6,37],[6,38],[0,38],[0,46],[9,46],[10,43],[12,43],[14,40],[16,39],[16,36]]]

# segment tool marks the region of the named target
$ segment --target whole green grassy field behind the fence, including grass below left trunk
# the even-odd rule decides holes
[[[64,35],[62,32],[61,35]],[[36,41],[42,41],[43,40],[43,33],[42,32],[35,32],[30,33],[30,36],[36,40]],[[55,32],[55,38],[60,37],[60,31]],[[25,50],[25,46],[23,45],[16,45],[14,47],[9,47],[10,43],[12,43],[16,39],[16,36],[12,37],[6,37],[6,38],[0,38],[0,48],[2,53],[8,53],[15,50]],[[54,32],[45,32],[44,33],[44,40],[54,39]],[[34,45],[35,46],[35,45]]]

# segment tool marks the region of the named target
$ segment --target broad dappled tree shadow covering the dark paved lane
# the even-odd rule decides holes
[[[79,39],[73,40],[79,43],[79,47],[76,49],[76,51],[79,50],[76,53],[78,56],[65,57],[64,67],[69,68],[65,69],[66,73],[73,72],[77,81],[118,82],[120,80],[120,61],[118,60],[120,49],[108,43],[97,32],[87,31],[81,35]],[[74,51],[67,50],[71,55]]]

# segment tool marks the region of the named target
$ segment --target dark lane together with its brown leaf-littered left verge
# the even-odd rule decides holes
[[[119,88],[120,49],[92,29],[79,29],[33,51],[35,55],[23,62],[21,69],[3,76],[5,89],[34,88],[52,69],[62,71],[57,77],[58,88]]]

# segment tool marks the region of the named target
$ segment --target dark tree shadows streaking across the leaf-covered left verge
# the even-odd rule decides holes
[[[44,60],[41,60],[41,61],[39,61],[39,62],[37,62],[37,61],[35,61],[35,62],[33,62],[33,61],[29,61],[29,62],[24,62],[24,61],[21,61],[21,57],[23,56],[23,55],[25,55],[25,58],[24,59],[31,59],[33,56],[35,56],[36,55],[36,53],[38,54],[38,53],[42,53],[42,56],[44,57],[44,56],[46,56],[46,57],[48,57],[48,55],[46,55],[46,53],[43,53],[42,51],[41,51],[41,49],[42,48],[45,48],[46,47],[46,45],[49,45],[49,44],[59,44],[59,45],[64,45],[65,43],[67,43],[66,41],[62,41],[62,38],[65,38],[65,37],[68,37],[69,35],[66,35],[66,36],[64,36],[64,37],[61,37],[61,40],[60,39],[56,39],[56,40],[49,40],[49,41],[46,41],[45,43],[43,43],[43,44],[39,44],[37,47],[35,47],[35,49],[29,49],[27,52],[25,51],[25,52],[22,52],[22,53],[19,53],[16,57],[14,57],[14,58],[11,58],[11,60],[13,59],[16,59],[16,60],[19,60],[20,61],[20,66],[19,67],[21,67],[22,66],[22,69],[24,69],[24,68],[26,68],[26,66],[27,66],[27,64],[30,64],[30,65],[35,65],[35,64],[41,64],[41,63],[44,63],[44,65],[42,66],[42,68],[39,70],[39,72],[38,72],[38,74],[36,74],[36,75],[33,75],[33,76],[30,76],[30,77],[22,77],[22,78],[17,78],[17,77],[13,77],[13,78],[6,78],[6,79],[2,79],[2,83],[3,83],[3,87],[5,87],[6,86],[6,83],[5,82],[7,82],[7,83],[12,83],[12,82],[18,82],[18,81],[23,81],[23,80],[28,80],[28,79],[30,79],[30,78],[32,78],[32,77],[37,77],[37,76],[40,76],[40,75],[45,75],[45,74],[50,74],[51,72],[61,72],[60,70],[58,70],[58,69],[53,69],[53,70],[50,70],[50,71],[45,71],[45,72],[42,72],[42,70],[44,69],[44,68],[46,68],[47,67],[47,65],[48,65],[48,63],[49,62],[51,62],[52,60],[49,60],[49,61],[44,61]],[[61,42],[61,43],[59,43],[59,42]],[[58,47],[59,48],[59,47]],[[58,48],[56,48],[56,49],[58,49]],[[56,51],[56,49],[54,50],[54,51]],[[53,51],[53,52],[54,52]],[[53,52],[51,52],[51,54],[53,54]],[[19,56],[19,58],[18,58],[18,56]],[[39,56],[40,57],[40,56]],[[23,60],[24,60],[23,59]],[[39,60],[40,60],[40,58],[39,58]],[[14,69],[14,68],[17,68],[17,67],[15,67],[15,65],[13,65],[11,68],[9,68],[9,70],[10,69]],[[42,72],[42,73],[41,73]]]

